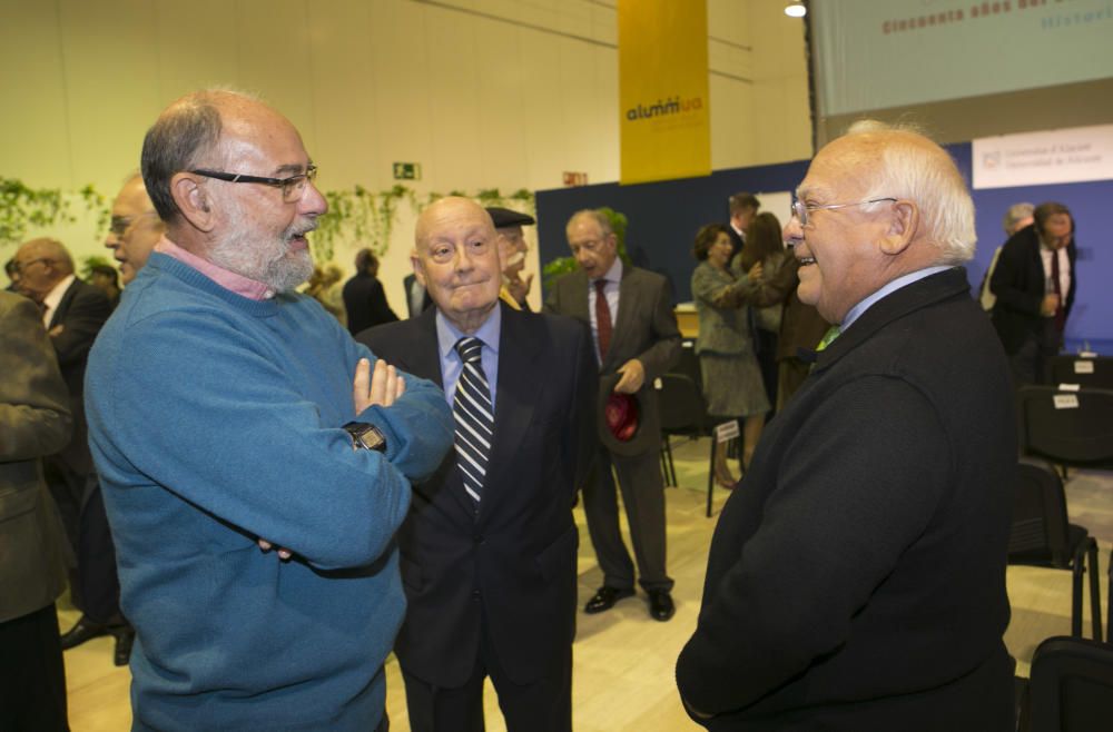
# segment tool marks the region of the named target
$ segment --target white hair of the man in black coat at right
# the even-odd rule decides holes
[[[974,201],[947,151],[912,125],[855,122],[847,137],[861,137],[876,148],[879,172],[866,199],[904,198],[919,209],[926,239],[939,248],[940,265],[961,265],[974,257]]]

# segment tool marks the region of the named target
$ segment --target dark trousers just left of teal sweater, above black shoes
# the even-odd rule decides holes
[[[73,594],[81,599],[81,611],[101,625],[119,623],[120,580],[116,574],[116,546],[96,474],[89,478],[81,507],[77,548]]]

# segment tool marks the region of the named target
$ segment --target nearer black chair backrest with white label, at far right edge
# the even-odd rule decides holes
[[[1113,465],[1113,390],[1025,386],[1020,416],[1024,454],[1064,465]]]

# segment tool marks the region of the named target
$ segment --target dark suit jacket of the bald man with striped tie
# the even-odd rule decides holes
[[[413,486],[398,531],[407,612],[395,641],[406,672],[434,686],[472,673],[486,629],[499,663],[529,683],[575,632],[575,488],[591,456],[590,337],[568,318],[501,304],[494,438],[476,514],[455,451]],[[441,384],[436,309],[357,336],[380,358]]]

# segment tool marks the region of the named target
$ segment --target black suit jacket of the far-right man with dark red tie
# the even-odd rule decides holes
[[[1072,237],[1066,245],[1071,268],[1071,288],[1064,300],[1067,316],[1077,290],[1074,268],[1077,256]],[[989,279],[989,289],[997,297],[993,306],[993,326],[1005,346],[1005,353],[1016,353],[1028,334],[1038,334],[1043,328],[1044,316],[1040,314],[1040,307],[1046,294],[1046,283],[1040,256],[1040,236],[1035,225],[1026,226],[1005,241]]]

